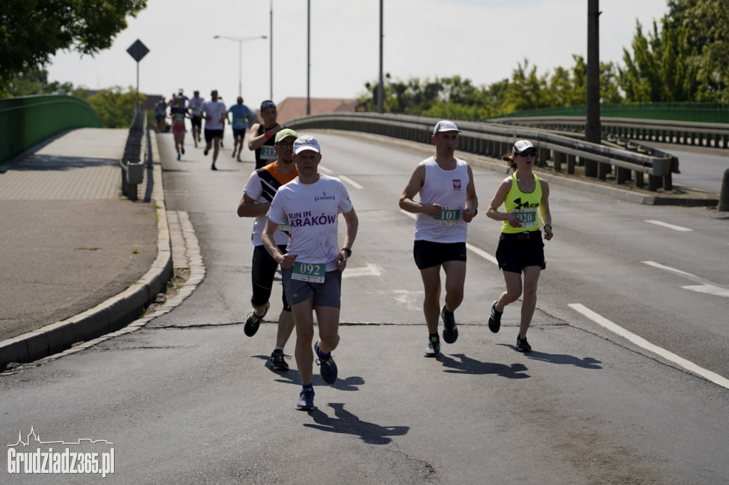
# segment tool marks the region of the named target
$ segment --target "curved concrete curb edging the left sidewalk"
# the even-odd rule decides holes
[[[173,272],[170,231],[165,210],[157,138],[151,136],[152,200],[157,209],[157,259],[147,274],[125,291],[92,309],[66,320],[0,342],[0,371],[9,363],[27,363],[61,352],[79,342],[95,339],[127,326],[164,291]]]

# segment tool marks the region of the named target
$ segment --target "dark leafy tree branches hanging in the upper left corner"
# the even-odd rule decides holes
[[[108,49],[127,15],[146,6],[146,0],[2,0],[0,84],[45,66],[58,50],[94,55]]]

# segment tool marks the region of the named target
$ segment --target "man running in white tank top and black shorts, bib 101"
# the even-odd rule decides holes
[[[435,155],[415,167],[400,196],[402,210],[418,214],[413,256],[425,288],[423,312],[428,327],[426,357],[440,355],[438,312],[443,340],[458,339],[453,312],[463,301],[466,280],[467,223],[478,213],[478,198],[470,165],[453,153],[460,130],[450,121],[437,122],[431,137]],[[420,193],[420,202],[415,196]],[[440,268],[445,272],[445,304],[440,308]]]

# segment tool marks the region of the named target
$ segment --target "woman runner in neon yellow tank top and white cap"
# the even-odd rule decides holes
[[[537,307],[537,283],[542,269],[545,269],[544,242],[539,231],[539,216],[542,213],[545,240],[551,240],[552,214],[549,209],[549,184],[532,173],[537,149],[527,140],[514,144],[510,155],[502,160],[515,169],[512,176],[504,178],[496,189],[494,199],[488,205],[486,216],[503,221],[496,260],[504,272],[506,291],[491,304],[488,328],[494,334],[501,327],[504,307],[516,301],[522,294],[521,272],[524,272],[523,298],[521,301],[521,323],[516,337],[516,350],[529,352],[531,345],[526,341],[531,317]],[[499,212],[504,205],[506,212]]]

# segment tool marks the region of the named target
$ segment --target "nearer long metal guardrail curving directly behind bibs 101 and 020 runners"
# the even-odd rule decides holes
[[[352,130],[401,138],[421,143],[431,143],[431,135],[437,119],[399,114],[377,113],[328,113],[314,114],[292,119],[286,126],[295,130],[306,128],[328,128]],[[636,186],[644,187],[644,175],[648,178],[648,189],[659,187],[673,189],[671,173],[678,173],[678,159],[669,154],[642,154],[616,146],[588,143],[549,130],[506,125],[493,122],[458,122],[461,129],[457,149],[499,158],[510,153],[519,139],[528,139],[539,150],[539,159],[553,159],[555,171],[562,170],[566,163],[567,172],[574,173],[578,163],[585,165],[585,176],[601,180],[615,167],[616,181],[623,184],[635,174]],[[551,157],[550,157],[551,155]]]

